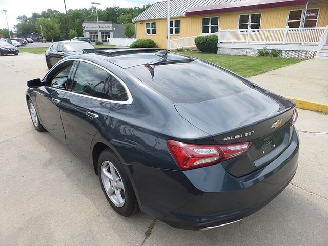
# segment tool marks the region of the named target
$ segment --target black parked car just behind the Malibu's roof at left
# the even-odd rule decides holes
[[[93,49],[88,42],[60,41],[53,43],[46,51],[46,64],[49,69],[59,60],[72,55],[82,54],[83,49]]]

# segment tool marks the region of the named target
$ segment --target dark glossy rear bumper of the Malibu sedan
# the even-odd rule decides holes
[[[220,164],[187,171],[128,167],[142,211],[176,228],[210,229],[241,220],[274,199],[296,173],[298,149],[294,128],[278,158],[242,177]]]

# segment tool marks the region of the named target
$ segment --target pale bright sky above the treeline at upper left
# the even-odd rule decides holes
[[[107,7],[119,6],[129,8],[134,6],[141,7],[148,3],[153,4],[160,0],[66,0],[66,8],[83,9],[90,8],[91,2],[101,3],[97,8],[106,9]],[[26,15],[32,16],[33,12],[41,13],[47,9],[55,9],[65,13],[64,0],[0,0],[0,28],[7,28],[5,12],[7,10],[7,19],[9,28],[13,29],[17,24],[17,16]],[[110,19],[109,19],[110,20]]]

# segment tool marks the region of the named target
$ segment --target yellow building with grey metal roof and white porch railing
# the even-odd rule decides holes
[[[219,35],[218,53],[247,53],[263,45],[299,50],[303,45],[306,56],[310,51],[313,56],[328,25],[328,0],[171,0],[170,5],[171,49],[192,46],[195,36],[214,33]],[[166,1],[157,2],[134,18],[137,39],[167,47],[166,8]]]

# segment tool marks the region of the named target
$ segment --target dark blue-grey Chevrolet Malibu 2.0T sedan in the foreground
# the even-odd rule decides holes
[[[261,209],[297,169],[294,101],[207,61],[98,50],[27,85],[35,129],[86,161],[123,216],[219,227]]]

